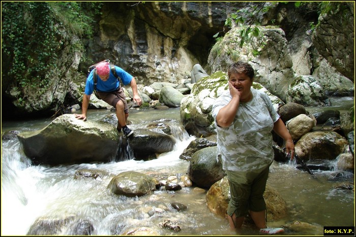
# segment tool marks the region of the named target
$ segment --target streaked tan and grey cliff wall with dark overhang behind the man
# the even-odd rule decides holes
[[[107,2],[88,58],[110,58],[142,84],[176,83],[206,63],[213,36],[239,2]]]

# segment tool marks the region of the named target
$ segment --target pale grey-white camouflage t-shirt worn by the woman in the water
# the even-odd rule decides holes
[[[254,88],[251,92],[252,100],[240,102],[229,127],[219,127],[216,116],[232,99],[230,92],[224,92],[213,104],[217,154],[221,155],[224,170],[252,171],[270,165],[274,159],[271,131],[279,115],[267,94]]]

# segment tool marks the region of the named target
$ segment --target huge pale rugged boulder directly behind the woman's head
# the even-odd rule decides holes
[[[241,27],[230,29],[210,51],[207,59],[212,72],[226,72],[228,65],[243,60],[255,70],[254,82],[260,83],[281,100],[294,79],[292,59],[281,28],[258,26],[259,34],[241,47]]]

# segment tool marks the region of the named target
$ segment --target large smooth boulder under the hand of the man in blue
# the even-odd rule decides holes
[[[65,114],[38,131],[17,135],[23,151],[34,163],[108,162],[118,150],[118,132],[107,122],[76,119]]]

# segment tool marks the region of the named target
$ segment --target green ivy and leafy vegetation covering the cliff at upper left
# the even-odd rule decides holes
[[[45,91],[50,85],[57,55],[66,43],[65,29],[71,29],[79,37],[92,36],[91,24],[101,5],[95,2],[2,3],[2,53],[9,68],[2,76],[14,83],[11,94],[19,102],[27,96],[28,89]]]

